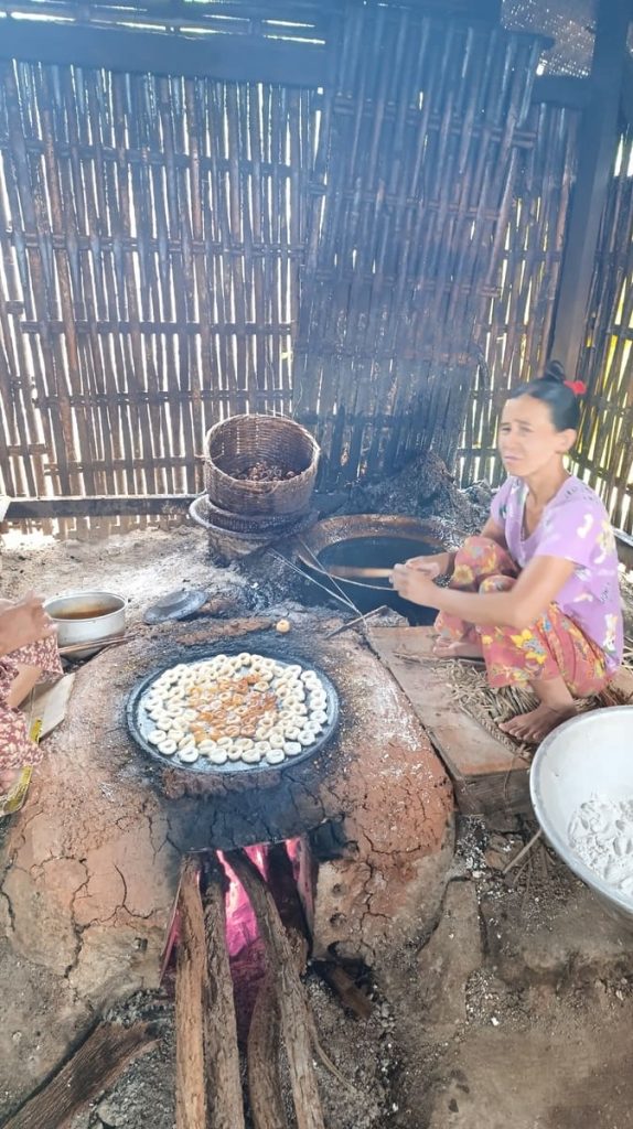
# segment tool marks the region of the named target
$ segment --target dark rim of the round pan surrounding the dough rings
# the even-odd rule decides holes
[[[160,669],[152,671],[151,674],[148,674],[147,677],[139,682],[132,690],[130,698],[128,699],[126,707],[128,728],[137,744],[140,745],[146,753],[149,753],[153,761],[158,761],[164,769],[173,769],[178,772],[188,773],[194,772],[197,776],[235,776],[236,773],[244,772],[248,772],[250,774],[255,772],[278,772],[280,769],[283,770],[288,765],[300,764],[302,761],[307,761],[309,758],[315,756],[316,753],[318,753],[319,750],[322,750],[331,739],[339,724],[339,694],[327,675],[324,674],[324,672],[317,666],[306,663],[305,659],[294,658],[287,654],[281,655],[279,651],[275,654],[273,649],[267,647],[256,647],[256,649],[252,651],[254,655],[262,655],[265,658],[274,658],[276,663],[280,663],[283,666],[290,666],[293,663],[299,663],[305,671],[314,671],[315,674],[318,674],[327,694],[328,721],[323,733],[320,733],[317,741],[315,741],[314,745],[308,745],[305,751],[299,753],[297,756],[287,756],[281,764],[245,764],[244,761],[227,761],[226,764],[211,764],[206,758],[203,756],[199,758],[197,761],[194,761],[193,764],[183,764],[182,761],[177,761],[170,756],[164,756],[159,753],[158,750],[148,741],[148,735],[153,728],[156,728],[156,723],[148,716],[143,706],[143,698],[148,693],[150,686],[153,685],[156,680],[160,677],[165,671],[170,669],[173,666],[181,665],[182,663],[188,666],[194,663],[200,663],[205,658],[213,658],[216,655],[236,654],[237,650],[244,650],[244,639],[239,640],[237,648],[234,641],[232,645],[227,644],[223,647],[218,646],[210,648],[208,651],[205,650],[204,654],[196,654],[195,657],[190,659],[175,659],[172,663],[167,663],[165,666],[161,666]]]

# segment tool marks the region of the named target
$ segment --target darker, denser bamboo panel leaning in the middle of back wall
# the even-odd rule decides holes
[[[350,16],[326,94],[294,411],[331,484],[452,462],[481,356],[539,42],[387,9]]]

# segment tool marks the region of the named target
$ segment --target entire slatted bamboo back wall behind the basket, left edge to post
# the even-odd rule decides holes
[[[239,411],[310,426],[324,487],[431,445],[496,480],[503,392],[547,347],[574,115],[530,104],[534,36],[406,3],[305,2],[298,33],[278,8],[326,45],[323,90],[1,64],[8,493],[194,491]]]

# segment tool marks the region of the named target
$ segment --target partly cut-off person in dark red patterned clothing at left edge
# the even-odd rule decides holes
[[[55,628],[35,596],[0,601],[0,794],[42,760],[17,707],[44,675],[62,674]]]

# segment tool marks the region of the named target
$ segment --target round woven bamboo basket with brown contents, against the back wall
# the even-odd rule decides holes
[[[315,487],[319,448],[306,428],[284,415],[231,415],[205,438],[204,485],[211,502],[237,514],[300,514]],[[294,478],[238,479],[254,463],[279,464]]]

